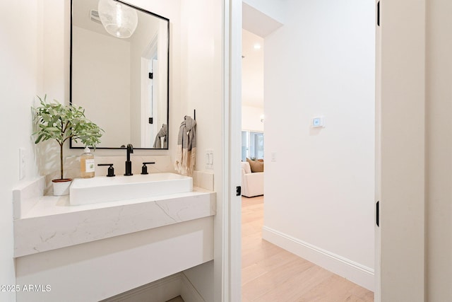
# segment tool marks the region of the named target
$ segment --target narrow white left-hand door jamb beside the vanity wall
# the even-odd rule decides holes
[[[222,302],[242,301],[242,0],[223,0]]]

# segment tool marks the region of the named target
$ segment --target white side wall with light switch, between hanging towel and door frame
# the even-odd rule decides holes
[[[181,1],[181,98],[177,104],[179,116],[173,122],[182,122],[184,115],[193,117],[196,110],[197,150],[196,170],[215,174],[217,214],[214,219],[215,255],[212,267],[197,268],[187,274],[194,284],[209,284],[201,293],[220,301],[222,284],[222,1]],[[171,108],[170,110],[173,110]],[[206,149],[212,149],[213,170],[206,169]],[[208,264],[206,264],[208,266]],[[215,278],[206,270],[214,270]],[[215,282],[214,282],[215,281]],[[207,301],[207,300],[206,300]]]

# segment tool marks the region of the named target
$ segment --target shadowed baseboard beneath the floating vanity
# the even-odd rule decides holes
[[[182,296],[185,302],[206,302],[183,272],[131,289],[101,302],[165,302]]]

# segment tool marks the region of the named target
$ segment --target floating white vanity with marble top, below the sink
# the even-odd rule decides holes
[[[16,284],[32,285],[17,301],[100,301],[213,260],[214,192],[70,206],[30,204],[30,186],[14,192]]]

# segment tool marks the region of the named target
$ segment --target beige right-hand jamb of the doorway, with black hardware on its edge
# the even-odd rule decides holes
[[[425,30],[426,0],[380,0],[376,302],[426,296]]]

